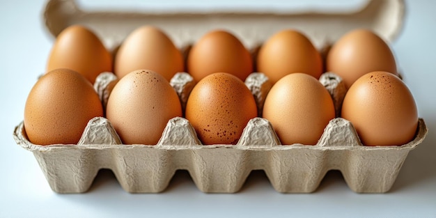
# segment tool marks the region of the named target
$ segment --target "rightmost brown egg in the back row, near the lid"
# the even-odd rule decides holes
[[[389,46],[366,29],[350,31],[334,43],[327,54],[326,69],[342,77],[347,88],[368,72],[397,73]]]

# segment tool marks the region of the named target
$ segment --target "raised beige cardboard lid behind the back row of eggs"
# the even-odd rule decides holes
[[[350,11],[274,11],[224,9],[177,11],[151,10],[85,11],[75,0],[49,0],[44,19],[47,29],[57,36],[73,24],[92,29],[109,50],[115,49],[129,33],[139,26],[157,26],[178,47],[196,42],[213,29],[226,29],[240,38],[248,48],[261,44],[283,29],[297,29],[308,36],[320,49],[341,38],[352,29],[365,28],[375,31],[391,42],[398,36],[403,24],[403,0],[368,0],[366,5]]]

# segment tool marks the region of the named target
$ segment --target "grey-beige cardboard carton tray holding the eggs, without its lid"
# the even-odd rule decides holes
[[[116,80],[111,73],[96,80],[103,104]],[[171,79],[183,105],[193,82],[187,73]],[[327,72],[320,82],[334,102],[343,100],[340,77]],[[271,87],[267,77],[252,73],[245,83],[262,107]],[[316,190],[329,170],[341,171],[355,192],[387,192],[407,154],[426,133],[419,118],[416,137],[409,143],[368,147],[348,120],[334,118],[316,145],[281,145],[270,122],[257,117],[249,120],[236,145],[202,145],[189,120],[176,117],[169,120],[157,145],[124,145],[110,121],[97,117],[89,121],[77,145],[35,145],[27,139],[23,123],[13,135],[17,144],[33,152],[50,187],[59,193],[86,192],[100,169],[111,169],[121,187],[132,193],[164,191],[179,169],[189,171],[202,192],[238,192],[251,171],[263,170],[277,192],[307,193]]]

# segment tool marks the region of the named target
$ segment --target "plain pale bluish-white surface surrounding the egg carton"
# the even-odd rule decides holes
[[[96,8],[103,2],[94,0],[88,6]],[[150,2],[156,8],[181,4]],[[265,1],[207,2],[183,1],[180,7],[265,6]],[[343,3],[334,2],[324,6]],[[332,172],[316,192],[281,194],[265,173],[256,171],[236,194],[205,194],[181,171],[160,194],[130,194],[110,171],[102,171],[85,194],[56,194],[33,154],[12,137],[53,42],[42,22],[45,1],[1,0],[0,217],[436,217],[436,1],[406,3],[404,29],[392,47],[429,132],[407,156],[390,192],[356,194],[340,173]],[[280,1],[273,5],[281,8]],[[116,1],[111,6],[117,6]]]

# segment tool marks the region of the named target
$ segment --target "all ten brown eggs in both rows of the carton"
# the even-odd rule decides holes
[[[382,43],[374,43],[373,47],[371,43],[353,44],[359,42],[355,38],[368,40],[370,36]],[[83,43],[86,46],[81,48],[78,38],[92,38],[93,42]],[[56,39],[49,72],[37,81],[26,102],[24,127],[32,143],[75,144],[88,120],[105,115],[123,143],[155,144],[167,121],[182,116],[180,101],[168,81],[176,72],[185,70],[184,61],[162,31],[153,26],[141,27],[120,46],[113,69],[120,81],[111,92],[106,111],[91,82],[100,72],[112,70],[111,56],[97,42],[98,38],[82,26],[71,26]],[[339,45],[345,47],[342,54]],[[224,54],[226,47],[233,50]],[[89,51],[84,52],[85,48]],[[235,52],[238,48],[240,52]],[[364,48],[369,54],[361,52]],[[386,54],[384,59],[380,52]],[[357,57],[364,63],[350,64]],[[366,70],[357,75],[357,71],[372,65],[371,60],[375,70],[387,72]],[[350,88],[343,101],[342,117],[355,125],[362,143],[402,145],[414,137],[416,105],[407,86],[394,75],[393,55],[380,38],[366,30],[348,33],[329,52],[327,69],[329,65]],[[260,47],[257,70],[274,83],[265,100],[263,117],[272,123],[281,143],[315,144],[335,117],[332,98],[318,81],[323,68],[318,51],[297,31],[281,31]],[[248,120],[257,116],[254,97],[243,82],[252,70],[249,52],[226,31],[212,31],[192,47],[187,71],[198,83],[189,95],[185,118],[203,144],[235,144]],[[357,78],[350,75],[360,79],[355,82]]]

